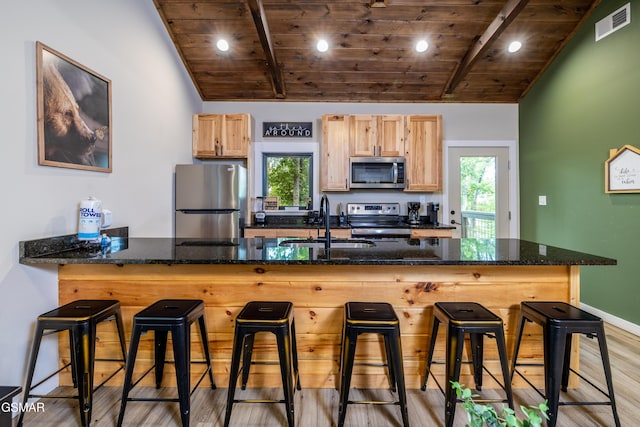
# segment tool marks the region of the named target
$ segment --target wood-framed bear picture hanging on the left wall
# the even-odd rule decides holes
[[[38,164],[111,172],[111,81],[36,42]]]

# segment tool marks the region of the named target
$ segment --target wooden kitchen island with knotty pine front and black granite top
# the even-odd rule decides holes
[[[401,321],[407,386],[418,388],[435,302],[476,301],[500,315],[511,353],[520,301],[577,305],[580,267],[616,263],[517,239],[386,239],[375,240],[369,247],[328,251],[324,247],[284,247],[282,240],[128,238],[125,232],[114,236],[111,250],[103,253],[98,246],[74,242],[74,236],[62,236],[21,242],[20,262],[59,266],[60,304],[80,298],[118,299],[128,331],[133,315],[158,299],[204,300],[214,375],[220,385],[228,382],[234,319],[243,305],[253,300],[291,301],[301,382],[308,388],[336,386],[347,301],[384,301],[394,306]],[[520,357],[540,360],[540,332],[533,330],[524,338]],[[435,357],[442,359],[445,334],[439,336],[442,341]],[[150,366],[150,338],[143,340],[136,371]],[[61,346],[65,341],[61,340]],[[256,357],[277,357],[272,337],[257,339],[256,344],[258,349],[269,350],[257,351]],[[379,362],[382,349],[378,337],[365,335],[357,361]],[[192,350],[195,356],[201,354],[195,339]],[[486,350],[487,366],[497,372],[493,342],[488,342]],[[115,355],[115,335],[109,331],[100,336],[98,351]],[[437,368],[443,372],[443,365]],[[106,371],[109,367],[104,371],[96,367],[97,375],[106,375]],[[192,375],[196,377],[197,372]],[[531,375],[541,383],[541,370]],[[68,383],[70,378],[61,381]],[[276,366],[257,365],[248,386],[279,387],[280,381]],[[470,384],[467,367],[461,381]],[[353,386],[383,388],[386,375],[380,367],[357,367]],[[487,377],[484,386],[496,385]]]

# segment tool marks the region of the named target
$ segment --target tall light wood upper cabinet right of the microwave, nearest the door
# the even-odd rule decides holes
[[[407,116],[405,191],[442,191],[442,116]]]

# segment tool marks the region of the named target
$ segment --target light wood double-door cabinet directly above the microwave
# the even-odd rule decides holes
[[[349,154],[352,157],[404,155],[404,116],[356,114],[349,117]]]

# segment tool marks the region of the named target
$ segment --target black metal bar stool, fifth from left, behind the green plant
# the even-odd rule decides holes
[[[427,352],[427,367],[424,382],[422,383],[422,390],[426,390],[427,380],[429,379],[429,375],[431,375],[440,391],[445,395],[445,425],[447,427],[453,425],[458,398],[450,383],[460,379],[460,367],[462,363],[471,363],[473,365],[473,378],[476,384],[476,390],[482,390],[482,372],[486,371],[491,378],[500,384],[506,393],[506,399],[475,399],[477,403],[504,402],[508,403],[509,407],[513,409],[513,393],[511,391],[509,362],[507,360],[507,346],[505,344],[502,319],[475,302],[437,302],[433,307],[433,316],[433,330]],[[445,362],[447,387],[444,390],[433,372],[431,372],[433,350],[436,346],[438,327],[441,322],[447,325]],[[469,334],[471,340],[471,362],[463,362],[462,360],[465,334]],[[504,380],[503,383],[500,383],[483,364],[483,341],[485,335],[496,339]]]

